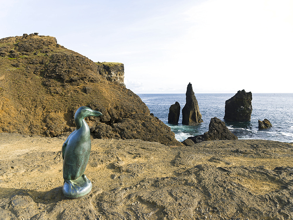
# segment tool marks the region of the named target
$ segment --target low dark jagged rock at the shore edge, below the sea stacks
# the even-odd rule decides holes
[[[187,139],[190,139],[194,143],[199,143],[202,141],[213,141],[213,140],[237,140],[238,138],[231,131],[229,131],[229,129],[226,127],[223,121],[221,121],[217,117],[214,117],[211,119],[209,123],[209,131],[201,135],[188,137]],[[186,145],[185,143],[183,144]],[[189,144],[188,146],[192,146],[192,145]]]

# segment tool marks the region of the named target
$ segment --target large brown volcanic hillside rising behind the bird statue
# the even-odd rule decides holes
[[[170,128],[150,116],[141,99],[124,87],[122,77],[107,77],[107,70],[101,72],[87,57],[57,44],[56,38],[3,38],[0,52],[0,132],[58,136],[73,131],[75,111],[88,106],[103,113],[102,118],[86,119],[96,137],[181,145]],[[109,74],[115,65],[111,63]],[[117,64],[117,70],[122,67]]]

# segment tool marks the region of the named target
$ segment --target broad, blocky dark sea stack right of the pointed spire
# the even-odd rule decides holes
[[[250,121],[252,112],[252,93],[238,91],[232,98],[225,102],[225,116],[227,121]]]

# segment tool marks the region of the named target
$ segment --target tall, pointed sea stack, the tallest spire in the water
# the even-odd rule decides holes
[[[201,122],[200,109],[192,89],[192,84],[189,83],[186,90],[186,104],[182,109],[182,124],[198,125]]]

